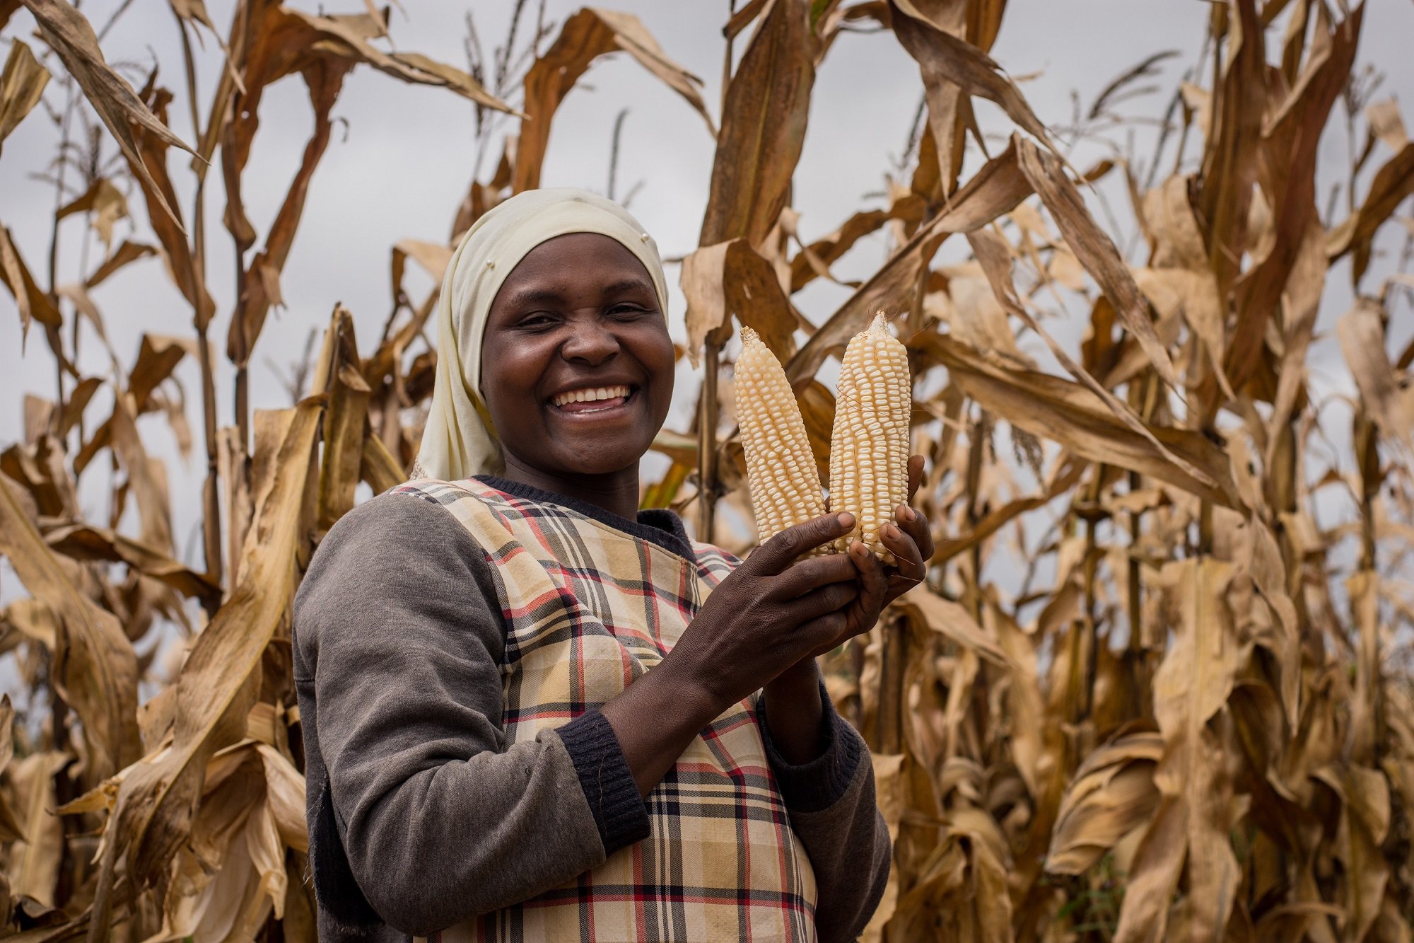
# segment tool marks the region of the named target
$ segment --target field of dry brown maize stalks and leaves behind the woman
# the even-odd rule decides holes
[[[107,38],[151,6],[181,41],[160,69]],[[0,170],[54,140],[6,177],[52,204],[24,229],[47,235],[0,195],[0,370],[44,364],[3,404],[0,936],[315,940],[291,595],[417,453],[457,236],[581,183],[546,171],[583,146],[551,127],[614,59],[711,153],[667,259],[682,409],[645,505],[755,544],[744,328],[822,484],[850,338],[884,310],[906,351],[936,554],[823,658],[894,837],[864,939],[1414,939],[1414,89],[1362,58],[1407,4],[1192,3],[1184,62],[1077,21],[1058,42],[1116,78],[1069,122],[990,55],[1024,0],[718,0],[720,85],[628,13],[506,0],[493,54],[472,33],[451,64],[393,41],[421,4],[325,6],[0,0]],[[916,74],[916,120],[826,219],[793,185],[829,130],[813,92],[865,41]],[[338,283],[287,304],[311,187],[362,140],[338,108],[370,84],[458,98],[488,160],[445,232],[390,246],[386,316]],[[307,116],[264,201],[263,99]],[[115,348],[119,292],[177,299],[182,330]],[[321,340],[262,344],[276,319]],[[296,360],[287,408],[255,408],[262,358]]]

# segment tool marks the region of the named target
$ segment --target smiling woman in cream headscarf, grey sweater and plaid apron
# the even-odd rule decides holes
[[[843,940],[872,913],[888,834],[814,656],[923,576],[928,528],[899,508],[896,571],[857,541],[797,561],[847,514],[737,565],[638,511],[666,297],[648,234],[575,190],[452,256],[420,477],[329,531],[294,606],[322,940]]]

